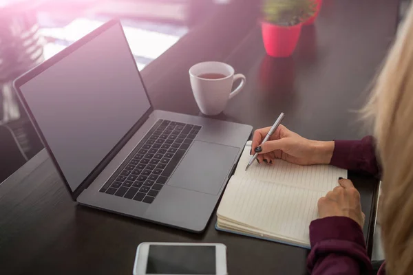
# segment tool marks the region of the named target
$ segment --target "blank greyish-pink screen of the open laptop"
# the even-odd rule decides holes
[[[151,107],[120,24],[20,90],[72,191]]]

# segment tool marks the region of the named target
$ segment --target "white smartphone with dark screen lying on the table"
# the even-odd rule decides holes
[[[222,243],[140,243],[134,275],[226,275]]]

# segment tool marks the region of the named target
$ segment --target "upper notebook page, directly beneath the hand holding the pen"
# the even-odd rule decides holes
[[[288,184],[308,188],[312,190],[323,190],[328,192],[338,185],[339,177],[347,177],[347,170],[330,165],[310,165],[301,166],[290,164],[282,159],[275,159],[273,165],[258,164],[254,162],[245,171],[248,164],[251,150],[251,142],[247,142],[240,162],[238,163],[235,175],[248,177],[250,179],[261,179],[264,181],[273,181],[279,184]]]

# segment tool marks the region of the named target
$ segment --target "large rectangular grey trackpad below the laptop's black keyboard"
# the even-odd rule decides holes
[[[240,148],[195,140],[169,186],[218,195]]]

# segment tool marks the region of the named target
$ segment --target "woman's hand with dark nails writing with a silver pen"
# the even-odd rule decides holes
[[[300,165],[329,164],[334,151],[334,142],[307,140],[301,135],[279,125],[270,139],[261,144],[271,127],[254,132],[251,155],[259,153],[257,161],[273,164],[274,159]]]

